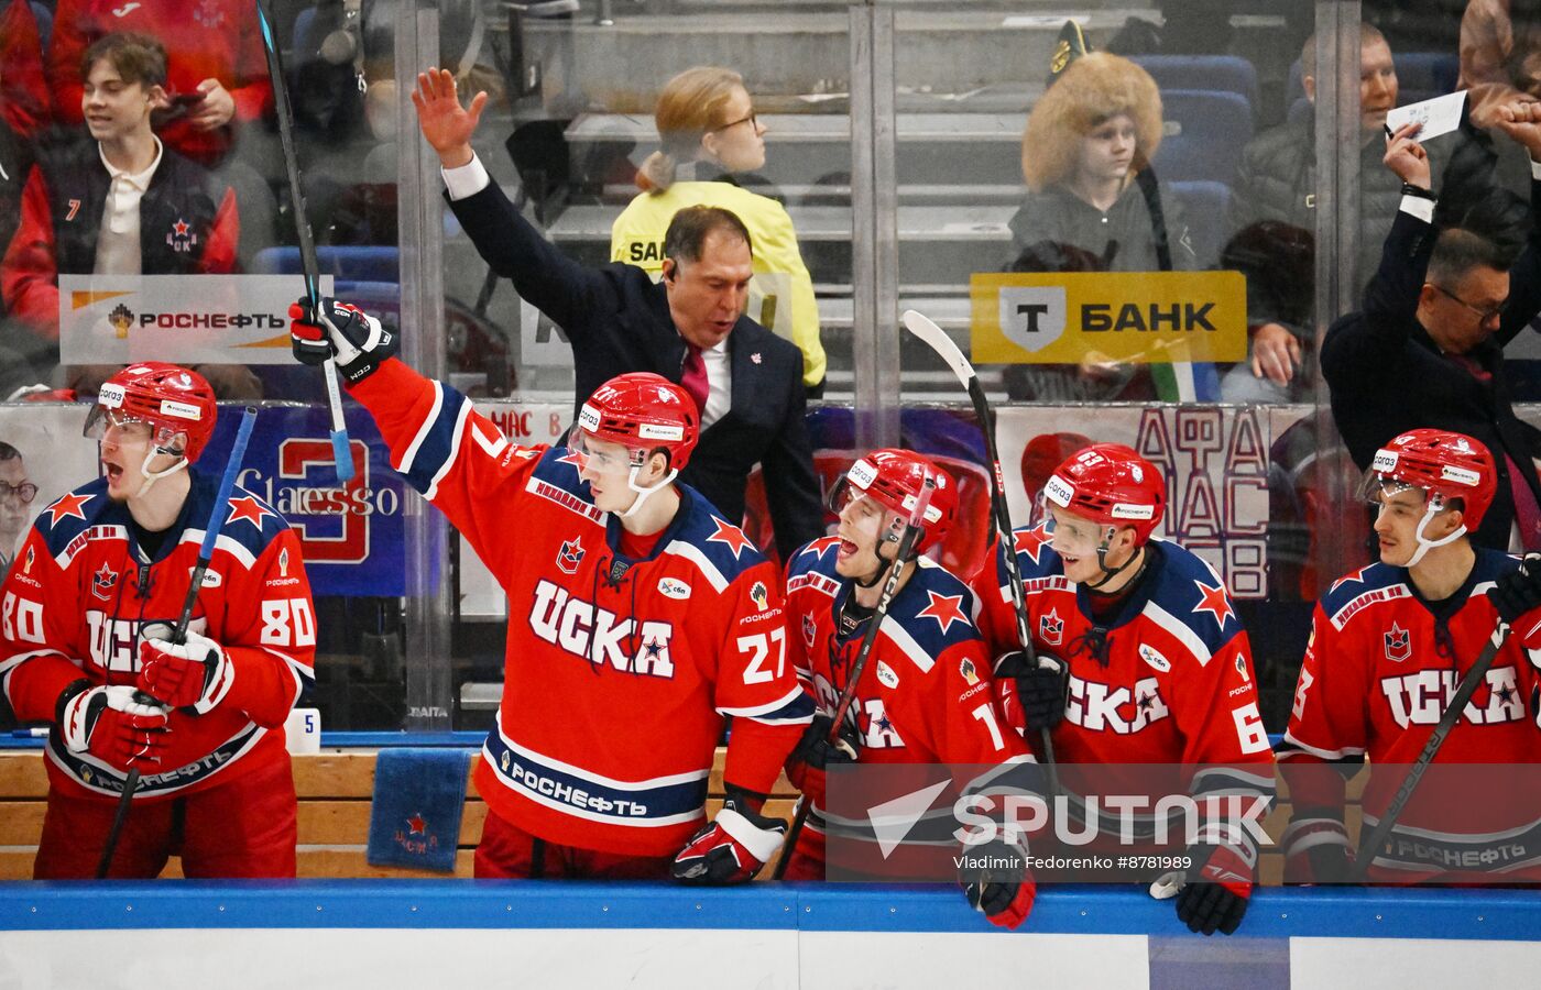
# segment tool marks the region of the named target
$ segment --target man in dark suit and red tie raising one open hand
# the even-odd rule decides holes
[[[587,268],[519,216],[472,151],[485,92],[462,108],[453,75],[430,69],[418,75],[411,100],[444,165],[450,208],[472,243],[567,333],[575,416],[616,374],[652,371],[678,382],[698,399],[704,425],[681,479],[738,522],[749,471],[760,463],[781,559],[823,536],[803,356],[743,316],[754,276],[743,223],[723,209],[681,211],[666,236],[673,256],[664,260],[663,283],[633,265]]]

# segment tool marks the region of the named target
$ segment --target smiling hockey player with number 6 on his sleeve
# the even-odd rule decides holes
[[[1043,487],[1048,520],[1014,533],[1039,664],[1017,642],[1005,557],[974,579],[994,647],[1002,717],[1053,731],[1062,764],[1191,765],[1205,794],[1273,794],[1251,648],[1225,584],[1200,557],[1153,539],[1167,508],[1160,471],[1128,447],[1096,443]],[[1211,822],[1190,850],[1177,916],[1230,935],[1256,875],[1257,844]]]

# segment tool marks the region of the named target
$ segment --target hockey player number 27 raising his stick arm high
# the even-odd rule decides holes
[[[750,879],[784,836],[760,810],[812,701],[786,662],[774,565],[675,480],[700,426],[689,393],[623,374],[570,447],[513,447],[396,360],[373,317],[325,300],[294,319],[296,356],[336,354],[393,467],[509,596],[476,876]],[[724,716],[727,801],[704,822]]]

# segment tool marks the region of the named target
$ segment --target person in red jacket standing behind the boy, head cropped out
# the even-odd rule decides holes
[[[273,109],[267,55],[250,0],[122,3],[59,0],[48,52],[48,83],[59,115],[80,123],[80,57],[94,42],[123,31],[162,38],[170,52],[160,134],[173,151],[213,168],[236,137]]]

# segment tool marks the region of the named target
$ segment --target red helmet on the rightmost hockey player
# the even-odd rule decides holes
[[[1465,528],[1473,531],[1493,503],[1498,470],[1479,440],[1449,430],[1410,430],[1376,451],[1359,494],[1370,499],[1407,488],[1422,488],[1433,511],[1447,499],[1461,499]]]

